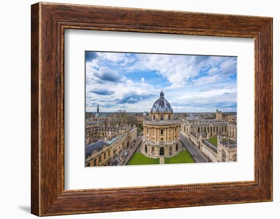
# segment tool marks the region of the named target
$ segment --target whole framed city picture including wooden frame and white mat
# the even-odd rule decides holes
[[[31,9],[33,214],[272,201],[272,18]]]

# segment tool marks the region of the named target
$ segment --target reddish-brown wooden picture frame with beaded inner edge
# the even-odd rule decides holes
[[[37,3],[31,25],[33,214],[272,201],[272,18]],[[254,38],[255,180],[65,191],[66,28]]]

